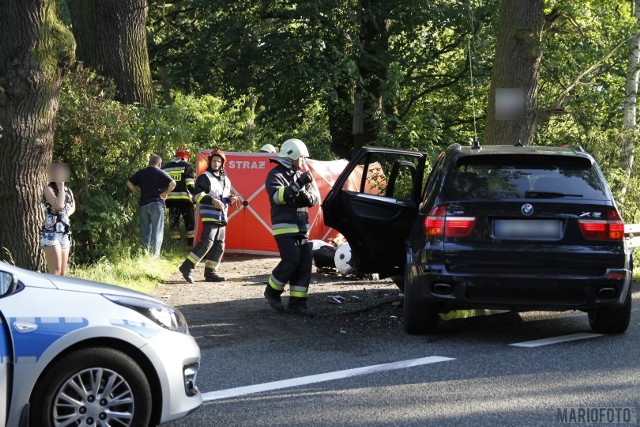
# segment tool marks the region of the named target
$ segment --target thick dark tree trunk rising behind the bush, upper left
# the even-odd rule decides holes
[[[153,103],[147,0],[67,0],[77,58],[113,79],[126,104]]]

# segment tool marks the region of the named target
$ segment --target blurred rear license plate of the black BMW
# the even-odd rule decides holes
[[[557,219],[496,219],[493,235],[496,239],[558,240],[562,237],[562,222]]]

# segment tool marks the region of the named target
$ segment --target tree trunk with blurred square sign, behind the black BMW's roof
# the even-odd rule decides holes
[[[543,5],[543,0],[502,0],[484,144],[533,143]],[[496,99],[504,106],[507,98],[517,103],[496,110]]]

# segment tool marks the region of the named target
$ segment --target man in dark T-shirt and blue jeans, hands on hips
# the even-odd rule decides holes
[[[140,232],[145,250],[160,256],[164,236],[164,209],[167,195],[176,182],[160,169],[162,158],[156,154],[149,157],[149,166],[140,169],[127,181],[127,187],[140,197]]]

